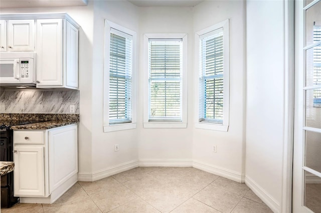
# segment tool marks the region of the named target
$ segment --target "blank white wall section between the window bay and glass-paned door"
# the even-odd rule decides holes
[[[247,1],[245,182],[281,211],[284,104],[283,1]],[[273,14],[273,15],[272,15]]]

